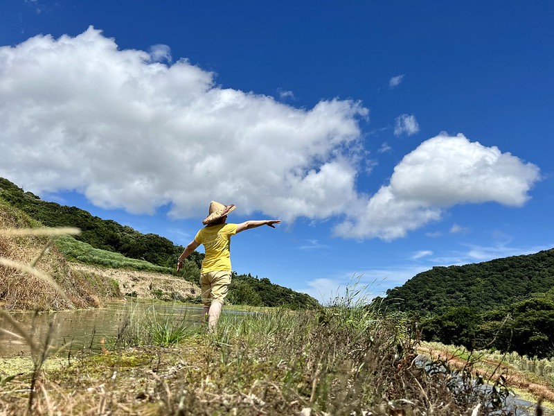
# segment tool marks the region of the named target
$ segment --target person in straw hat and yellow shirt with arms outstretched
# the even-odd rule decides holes
[[[229,285],[231,284],[231,236],[245,229],[269,225],[275,228],[280,220],[249,220],[241,224],[227,224],[227,214],[235,209],[235,205],[223,205],[212,201],[208,216],[202,223],[206,226],[197,232],[193,241],[186,246],[177,260],[177,272],[183,266],[183,260],[190,253],[204,245],[206,256],[200,270],[200,287],[202,288],[202,303],[204,316],[208,315],[208,329],[213,331],[221,310]]]

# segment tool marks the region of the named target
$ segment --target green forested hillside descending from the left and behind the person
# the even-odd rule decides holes
[[[2,177],[0,200],[6,201],[47,227],[71,226],[81,229],[81,234],[75,237],[80,243],[73,237],[60,240],[60,248],[71,261],[103,267],[129,267],[173,273],[177,257],[184,250],[181,245],[174,245],[172,241],[157,234],[142,234],[116,221],[92,216],[83,209],[41,200]],[[109,253],[102,250],[113,252],[114,255],[108,255]],[[119,254],[124,257],[117,257]],[[125,257],[140,261],[125,261]],[[204,254],[199,252],[193,252],[186,259],[184,278],[198,283],[202,259]],[[148,266],[148,263],[156,267]],[[313,309],[319,306],[319,302],[310,295],[272,284],[267,278],[258,279],[250,274],[233,274],[229,300],[233,304],[285,306],[290,309]]]

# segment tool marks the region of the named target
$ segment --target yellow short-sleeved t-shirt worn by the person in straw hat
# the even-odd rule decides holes
[[[236,232],[236,224],[208,225],[197,232],[195,241],[206,252],[201,273],[231,270],[231,236]]]

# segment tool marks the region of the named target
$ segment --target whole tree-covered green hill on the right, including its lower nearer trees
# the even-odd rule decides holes
[[[554,249],[434,267],[378,301],[420,320],[424,340],[554,357]]]

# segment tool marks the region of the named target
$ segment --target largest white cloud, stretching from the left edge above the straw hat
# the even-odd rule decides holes
[[[298,109],[219,87],[186,60],[155,62],[169,56],[120,50],[92,27],[0,48],[0,175],[132,213],[170,204],[175,217],[215,199],[328,218],[356,197],[360,103]]]

